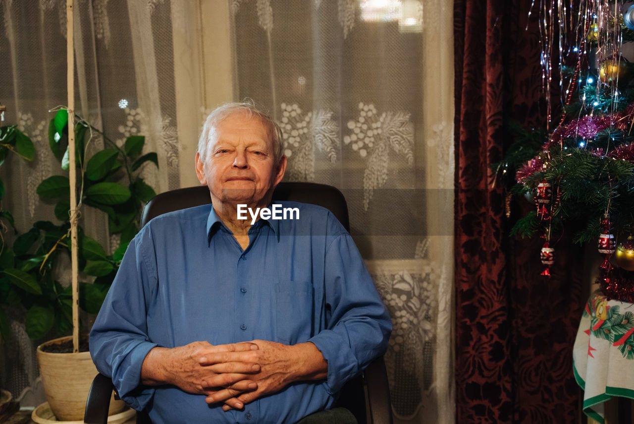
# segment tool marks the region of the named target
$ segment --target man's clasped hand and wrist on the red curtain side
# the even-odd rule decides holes
[[[253,340],[259,348],[252,351],[257,354],[256,363],[260,365],[259,373],[249,376],[256,381],[257,389],[243,392],[235,398],[235,390],[221,388],[205,398],[208,404],[225,402],[224,411],[233,409],[231,401],[247,404],[264,395],[279,392],[295,381],[323,380],[328,374],[328,363],[313,343],[283,345],[275,341]],[[233,402],[235,403],[235,402]]]

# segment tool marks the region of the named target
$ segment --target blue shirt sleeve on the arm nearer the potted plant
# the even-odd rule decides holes
[[[97,369],[112,378],[121,399],[138,411],[155,391],[140,385],[143,361],[157,346],[147,336],[145,292],[157,279],[151,255],[143,251],[148,244],[152,246],[148,229],[130,242],[90,333],[90,353]]]

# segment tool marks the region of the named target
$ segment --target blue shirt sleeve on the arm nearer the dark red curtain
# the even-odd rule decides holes
[[[352,237],[337,235],[325,257],[326,329],[311,341],[328,362],[331,394],[387,350],[392,322]]]

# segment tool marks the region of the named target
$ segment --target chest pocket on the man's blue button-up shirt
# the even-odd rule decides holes
[[[303,343],[313,329],[313,286],[306,281],[275,285],[277,339],[285,345]]]

